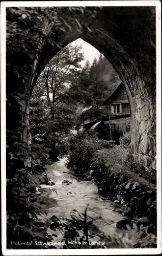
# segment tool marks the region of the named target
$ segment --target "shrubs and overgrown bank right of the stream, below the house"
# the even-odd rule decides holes
[[[129,135],[120,138],[120,145],[107,143],[107,148],[102,148],[105,147],[102,144],[102,141],[96,143],[93,133],[72,137],[66,166],[83,179],[93,178],[99,194],[116,202],[123,213],[117,228],[127,229],[129,225],[132,229],[133,223],[142,225],[145,230],[142,236],[148,238],[144,245],[151,247],[150,236],[156,235],[156,185],[145,179],[144,170],[148,169],[133,162]],[[136,246],[141,248],[143,244],[139,242]]]

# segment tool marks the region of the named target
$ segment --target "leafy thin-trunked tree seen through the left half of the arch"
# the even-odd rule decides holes
[[[66,137],[76,122],[77,102],[70,88],[77,82],[82,47],[71,45],[53,57],[40,74],[30,101],[30,124],[33,139],[42,151],[48,148],[50,158],[56,160],[67,150]],[[63,146],[64,145],[64,146]]]

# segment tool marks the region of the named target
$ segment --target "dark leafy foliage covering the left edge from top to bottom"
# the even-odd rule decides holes
[[[28,122],[29,99],[39,75],[36,73],[36,69],[40,60],[40,52],[46,44],[52,47],[57,45],[55,39],[49,39],[51,29],[69,30],[68,21],[71,20],[75,28],[79,30],[79,26],[82,24],[82,19],[78,18],[80,14],[85,13],[86,15],[87,13],[88,16],[90,14],[94,16],[98,8],[93,8],[93,11],[89,12],[87,8],[69,7],[60,14],[62,9],[64,8],[11,7],[6,9],[7,248],[13,248],[12,241],[50,240],[46,232],[47,228],[42,222],[38,222],[37,217],[46,212],[44,204],[39,203],[37,188],[40,188],[40,193],[43,193],[43,189],[40,187],[40,184],[45,182],[42,168],[46,163],[49,148],[46,148],[46,145],[41,147],[37,138],[32,144]],[[69,11],[74,15],[67,15]],[[68,48],[66,50],[68,51]],[[82,59],[82,56],[78,56],[76,62],[79,62],[79,58]],[[38,83],[40,79],[38,79]],[[37,137],[36,135],[40,133],[41,129],[41,132],[44,133],[43,129],[46,127],[40,125],[40,114],[44,119],[47,116],[47,110],[43,108],[43,104],[41,105],[43,102],[42,88],[38,85],[37,89],[35,102],[37,112],[33,114],[37,125],[31,123],[34,137]],[[59,94],[57,96],[60,97]],[[66,112],[68,114],[70,112],[71,115],[71,109],[67,109],[65,104],[60,106],[60,110],[61,113],[65,113],[64,116],[66,116]],[[36,120],[37,118],[38,120]],[[42,122],[42,124],[45,123]],[[18,245],[18,248],[22,247]],[[44,248],[44,246],[40,247]]]

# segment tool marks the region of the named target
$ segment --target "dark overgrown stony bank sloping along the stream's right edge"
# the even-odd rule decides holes
[[[114,172],[113,167],[104,165],[103,169],[96,166],[90,170],[89,178],[93,177],[98,186],[99,195],[112,200],[121,207],[119,212],[123,220],[117,223],[118,228],[126,229],[125,224],[132,228],[148,227],[148,233],[156,234],[156,185],[131,172]],[[116,211],[116,209],[114,209]]]

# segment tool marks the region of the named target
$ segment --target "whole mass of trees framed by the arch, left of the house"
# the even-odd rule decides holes
[[[66,136],[74,126],[84,119],[107,115],[107,107],[102,106],[103,99],[119,82],[109,61],[101,54],[92,65],[86,61],[80,69],[83,59],[82,47],[69,45],[63,48],[43,69],[32,93],[30,124],[33,140],[40,142],[38,148],[44,148],[54,160],[61,145],[67,150]],[[84,108],[88,111],[83,111]],[[109,134],[109,129],[103,133]]]

